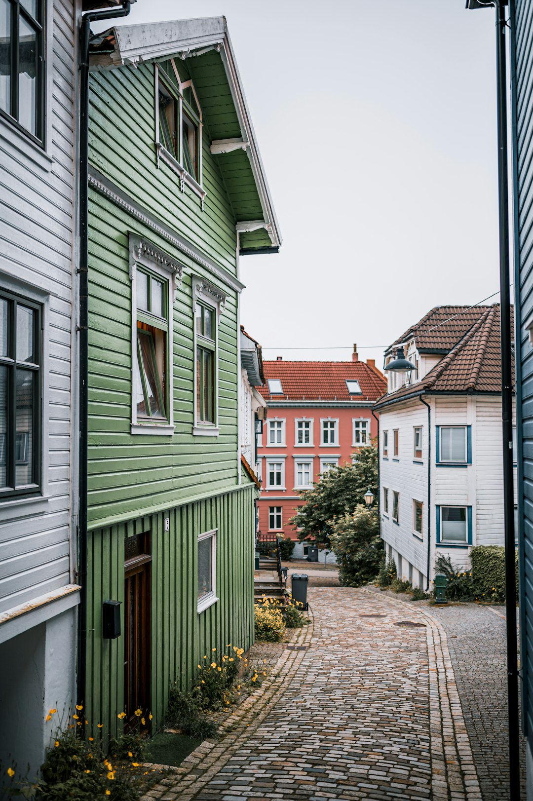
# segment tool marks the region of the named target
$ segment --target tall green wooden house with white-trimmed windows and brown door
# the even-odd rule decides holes
[[[90,64],[81,658],[113,733],[122,710],[159,725],[212,648],[252,644],[239,259],[281,236],[224,18],[117,26]]]

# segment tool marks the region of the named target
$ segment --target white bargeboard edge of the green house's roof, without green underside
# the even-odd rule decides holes
[[[256,237],[252,238],[249,248],[244,247],[241,235],[240,253],[265,252],[265,244],[268,246],[266,252],[277,252],[281,246],[281,231],[264,175],[226,18],[206,17],[153,22],[149,25],[119,25],[102,34],[96,34],[91,41],[95,45],[90,58],[93,69],[139,66],[143,62],[171,57],[183,60],[195,58],[196,62],[196,58],[213,50],[220,54],[240,127],[239,151],[243,158],[248,158],[262,210],[262,219],[237,222],[238,232],[239,226],[243,232],[256,231]],[[99,44],[96,42],[104,42],[99,51]],[[220,154],[224,152],[224,148],[221,147]],[[260,239],[260,231],[263,231],[263,239]],[[264,232],[267,235],[266,243]]]

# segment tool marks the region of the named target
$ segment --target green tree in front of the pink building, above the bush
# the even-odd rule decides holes
[[[354,465],[329,469],[313,489],[301,493],[305,505],[290,520],[301,529],[299,540],[313,539],[318,545],[330,545],[333,517],[351,513],[357,504],[363,504],[369,487],[378,498],[378,449],[368,445],[354,458]]]

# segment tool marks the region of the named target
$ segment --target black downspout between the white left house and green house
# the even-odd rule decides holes
[[[135,2],[135,0],[134,0]],[[131,2],[122,8],[84,14],[80,30],[81,63],[79,112],[79,516],[78,516],[78,672],[76,695],[85,703],[87,681],[87,414],[88,414],[88,181],[89,181],[89,41],[91,22],[127,17]]]

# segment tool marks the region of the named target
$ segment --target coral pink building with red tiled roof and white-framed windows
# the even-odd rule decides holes
[[[386,392],[386,380],[374,360],[264,361],[268,406],[258,435],[257,461],[262,480],[259,529],[297,539],[289,519],[310,489],[334,465],[352,461],[353,453],[378,435],[371,409]],[[295,556],[302,555],[297,545]]]

